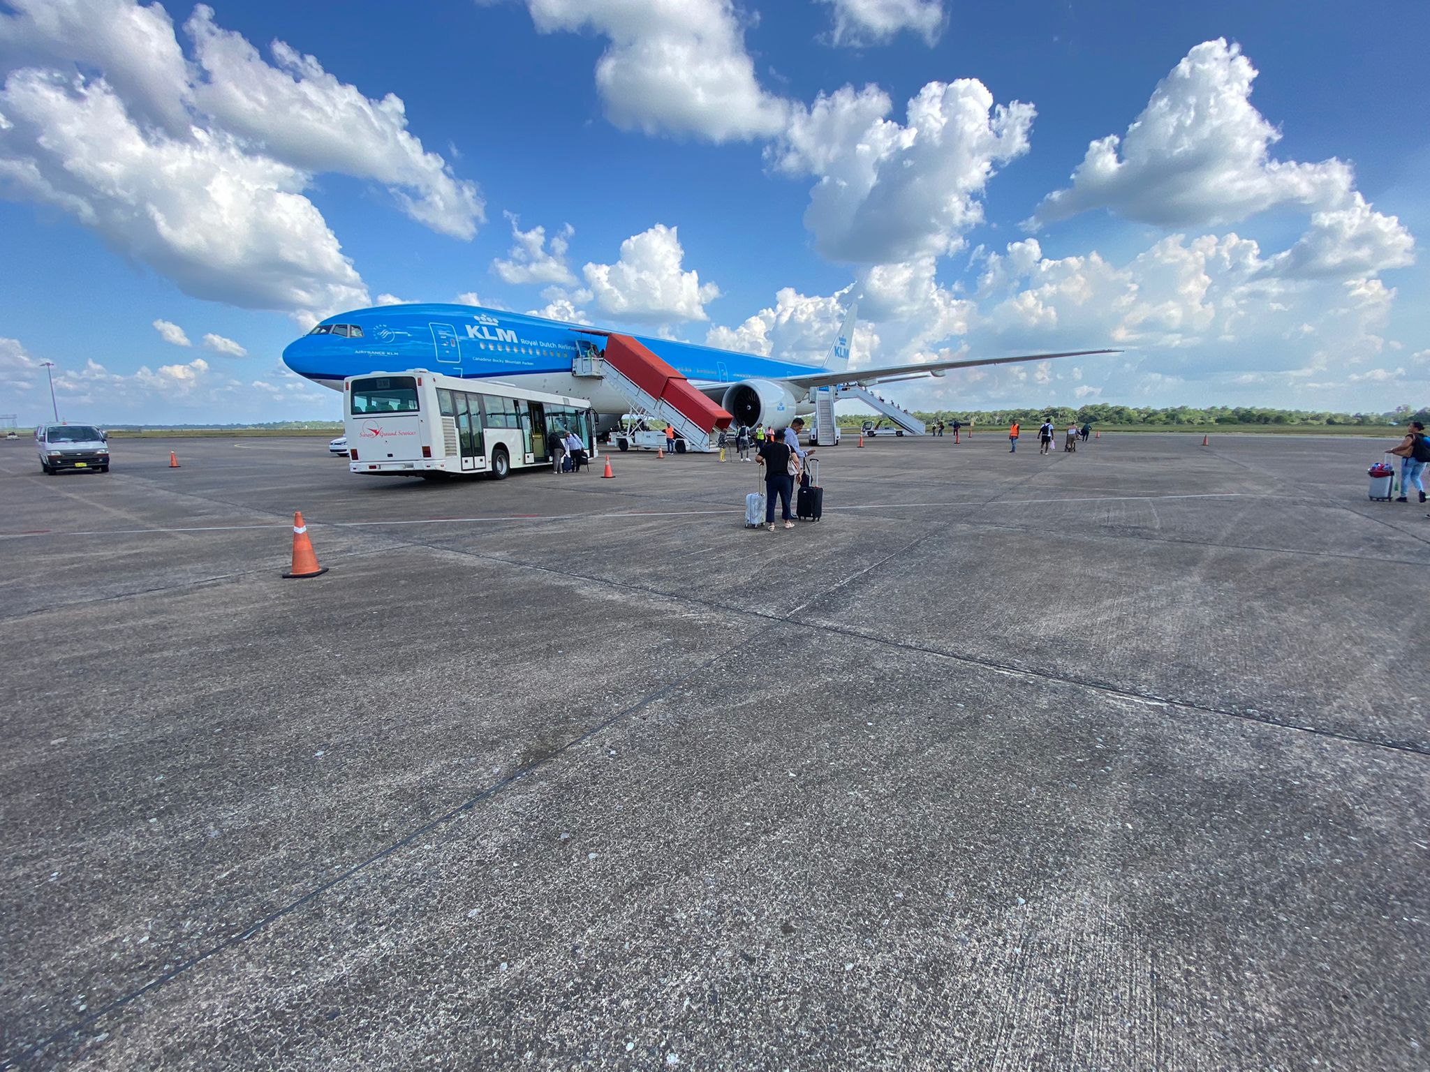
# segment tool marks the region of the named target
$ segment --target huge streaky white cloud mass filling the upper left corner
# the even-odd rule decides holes
[[[413,219],[469,237],[476,187],[363,96],[282,41],[266,63],[199,6],[187,60],[157,4],[16,0],[0,13],[0,196],[94,230],[184,293],[299,323],[368,303],[306,197],[315,174],[388,187]]]

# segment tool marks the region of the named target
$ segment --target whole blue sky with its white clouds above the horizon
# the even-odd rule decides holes
[[[1163,10],[1165,9],[1165,10]],[[817,360],[912,406],[1430,400],[1423,4],[0,0],[0,412],[333,417],[313,317]]]

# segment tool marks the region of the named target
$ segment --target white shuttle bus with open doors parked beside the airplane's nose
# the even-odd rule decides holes
[[[525,390],[426,369],[343,382],[347,467],[363,476],[490,473],[551,465],[551,443],[572,432],[596,456],[586,399]]]

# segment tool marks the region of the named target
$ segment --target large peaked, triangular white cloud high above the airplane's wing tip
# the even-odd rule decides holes
[[[1237,44],[1195,46],[1163,79],[1124,137],[1093,142],[1072,184],[1048,194],[1030,226],[1110,209],[1168,227],[1224,224],[1280,204],[1343,206],[1351,169],[1271,159],[1280,131],[1251,106],[1257,71]]]

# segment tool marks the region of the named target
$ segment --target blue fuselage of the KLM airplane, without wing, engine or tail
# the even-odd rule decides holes
[[[360,332],[360,334],[359,334]],[[711,346],[633,336],[694,386],[745,380],[782,383],[818,366],[782,362]],[[572,366],[582,347],[605,347],[605,339],[578,324],[522,313],[459,304],[405,304],[359,309],[330,316],[283,350],[283,362],[300,376],[342,390],[343,380],[369,372],[430,369],[463,379],[498,379],[519,387],[591,399],[598,413],[618,415],[626,400]],[[807,392],[791,389],[788,417],[814,409]],[[718,397],[718,390],[716,390]]]

